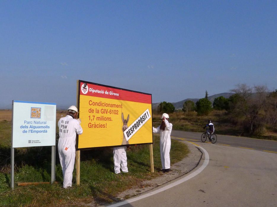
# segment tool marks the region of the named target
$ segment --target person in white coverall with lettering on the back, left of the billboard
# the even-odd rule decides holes
[[[58,122],[59,127],[59,143],[58,152],[60,157],[60,164],[63,171],[63,187],[71,187],[72,173],[75,163],[75,143],[76,133],[78,135],[83,133],[81,127],[81,120],[76,119],[78,114],[76,106],[70,106],[66,117],[60,118]]]

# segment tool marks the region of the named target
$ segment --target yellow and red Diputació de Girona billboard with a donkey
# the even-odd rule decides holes
[[[153,143],[151,94],[82,80],[77,87],[78,149]]]

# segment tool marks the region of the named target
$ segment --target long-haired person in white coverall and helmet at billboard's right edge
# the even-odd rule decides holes
[[[164,113],[161,117],[161,125],[157,128],[153,127],[153,132],[160,132],[160,152],[161,152],[161,171],[166,173],[170,171],[170,147],[171,140],[170,134],[172,130],[172,124],[168,122],[169,116]]]

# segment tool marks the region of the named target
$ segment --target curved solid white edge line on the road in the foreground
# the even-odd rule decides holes
[[[171,183],[171,184],[169,184],[169,185],[166,185],[166,186],[164,186],[164,187],[161,187],[161,188],[159,188],[159,189],[157,189],[157,190],[154,190],[154,191],[152,191],[152,192],[146,193],[146,194],[144,194],[144,195],[139,195],[139,196],[137,196],[137,197],[135,197],[135,198],[129,198],[129,199],[127,199],[127,200],[123,200],[123,201],[120,201],[120,202],[118,202],[118,203],[114,203],[114,204],[111,204],[111,205],[108,205],[108,206],[110,206],[110,207],[123,206],[123,205],[129,204],[129,203],[132,203],[132,202],[134,202],[134,201],[137,201],[137,200],[140,200],[140,199],[143,199],[143,198],[147,198],[147,197],[149,197],[149,196],[151,196],[151,195],[155,195],[155,194],[160,193],[160,192],[162,192],[162,191],[164,191],[164,190],[167,190],[167,189],[172,188],[172,187],[174,187],[174,186],[176,186],[176,185],[179,185],[179,184],[181,184],[181,183],[183,183],[183,182],[185,182],[185,181],[187,181],[187,180],[189,180],[189,179],[195,177],[196,175],[198,175],[198,174],[199,174],[200,172],[202,172],[202,171],[205,169],[205,167],[209,164],[209,154],[208,154],[208,152],[207,152],[204,148],[202,148],[202,147],[200,147],[200,146],[196,146],[196,147],[200,148],[201,151],[204,152],[204,154],[205,154],[204,163],[203,163],[203,164],[201,165],[201,167],[199,167],[196,171],[194,171],[193,173],[187,175],[186,177],[184,177],[184,178],[182,178],[182,179],[180,179],[180,180],[177,180],[176,182],[173,182],[173,183]],[[106,205],[105,205],[105,206],[106,206]]]

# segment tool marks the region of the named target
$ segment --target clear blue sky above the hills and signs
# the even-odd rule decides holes
[[[76,104],[76,80],[153,103],[277,88],[277,1],[2,1],[0,108]]]

